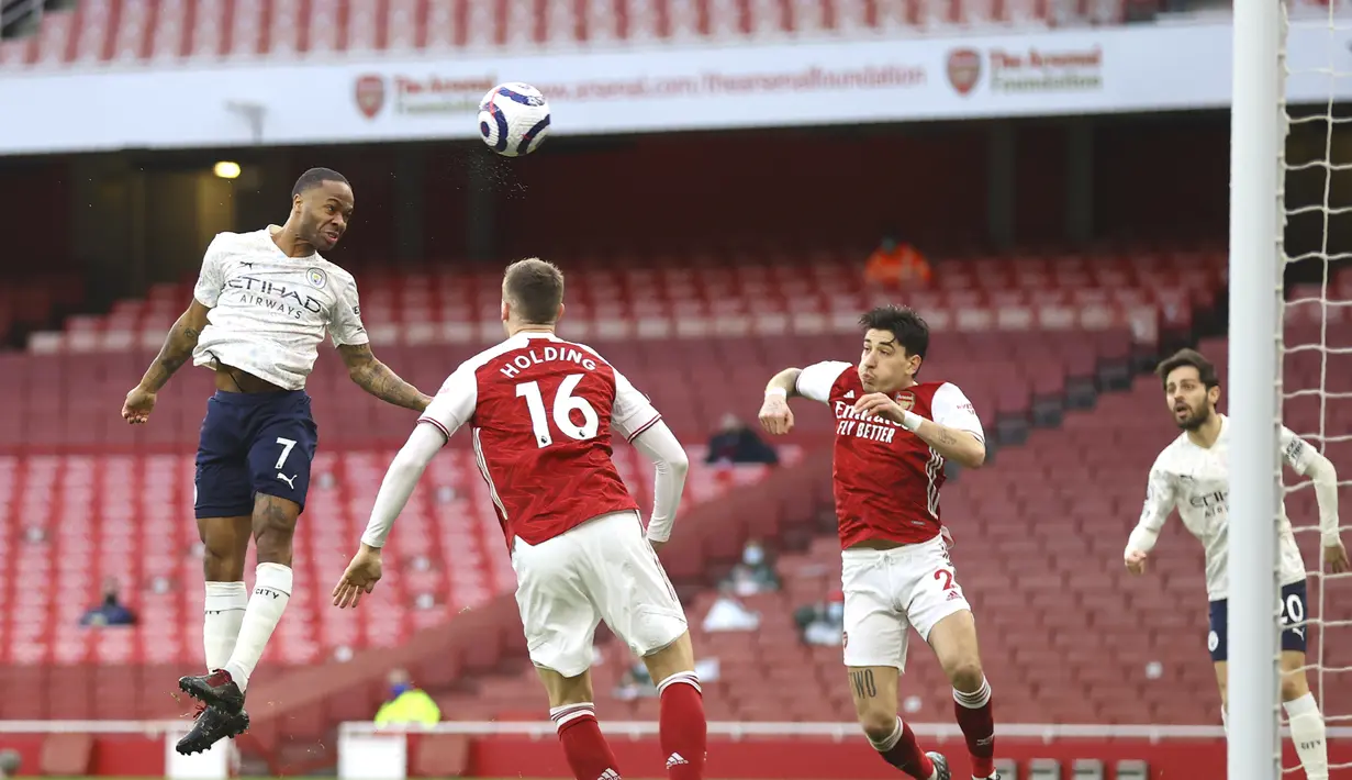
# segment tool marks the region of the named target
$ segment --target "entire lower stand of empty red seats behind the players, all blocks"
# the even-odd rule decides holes
[[[585,341],[652,393],[683,441],[698,442],[722,414],[749,415],[742,408],[746,399],[757,399],[765,377],[779,368],[853,356],[853,320],[872,293],[860,287],[859,274],[842,273],[844,262],[844,257],[722,268],[690,262],[662,272],[592,264],[571,277],[571,327],[583,331],[575,338],[585,334]],[[955,556],[982,608],[983,625],[991,626],[988,641],[1017,648],[990,661],[992,679],[1002,680],[1002,706],[1011,716],[1030,715],[1036,706],[1044,721],[1055,715],[1071,722],[1140,722],[1146,716],[1168,723],[1205,722],[1198,704],[1175,706],[1187,685],[1209,683],[1206,675],[1195,676],[1195,665],[1205,658],[1176,638],[1178,629],[1195,629],[1195,615],[1163,610],[1163,593],[1175,584],[1171,572],[1186,570],[1178,577],[1195,572],[1169,564],[1149,581],[1124,583],[1118,575],[1119,537],[1136,514],[1137,483],[1153,457],[1148,450],[1159,445],[1140,438],[1144,434],[1137,430],[1137,438],[1122,447],[1109,452],[1098,446],[1105,435],[1129,437],[1130,431],[1119,429],[1132,415],[1153,419],[1148,415],[1157,400],[1153,384],[1138,383],[1125,396],[1102,396],[1092,412],[1064,411],[1076,404],[1063,400],[1075,387],[1103,384],[1109,368],[1114,376],[1128,376],[1136,353],[1153,351],[1161,331],[1187,328],[1194,311],[1214,306],[1224,281],[1221,257],[1174,251],[1102,261],[1029,255],[953,261],[941,268],[934,291],[907,296],[934,307],[934,351],[927,372],[963,385],[991,423],[1013,419],[1026,427],[1040,401],[1052,401],[1059,410],[1048,420],[1065,416],[1064,429],[1034,430],[1026,447],[999,454],[998,469],[964,474],[946,493],[946,512],[959,537]],[[381,357],[419,385],[435,387],[449,366],[477,349],[475,345],[496,337],[498,273],[365,274],[364,314],[373,338],[388,342],[380,346]],[[155,680],[173,680],[176,669],[197,661],[196,589],[177,584],[196,581],[200,565],[196,535],[184,518],[191,516],[192,503],[188,452],[210,377],[185,369],[164,392],[155,424],[143,429],[122,424],[89,397],[120,397],[150,360],[147,346],[158,343],[189,295],[187,285],[160,285],[143,300],[120,301],[107,315],[72,318],[61,334],[37,337],[34,347],[47,353],[0,356],[0,370],[24,377],[0,385],[0,403],[19,410],[0,422],[8,426],[0,441],[23,442],[0,457],[0,519],[9,530],[0,537],[0,552],[18,561],[0,585],[5,603],[14,604],[0,618],[0,653],[16,689],[41,681],[68,691],[31,700],[8,698],[0,702],[0,716],[78,718],[88,712],[91,691],[108,693],[124,716],[181,708]],[[615,300],[622,303],[607,303]],[[1134,319],[1133,311],[1138,312]],[[731,335],[748,327],[758,335]],[[783,338],[784,333],[791,338]],[[53,387],[62,391],[53,393]],[[307,518],[322,516],[323,522],[301,523],[297,577],[326,585],[346,561],[389,447],[403,439],[411,418],[370,403],[347,383],[331,356],[320,358],[311,388],[326,446]],[[810,523],[829,503],[829,452],[819,445],[830,420],[813,411],[800,414],[802,433],[781,449],[784,464],[777,474],[764,466],[727,473],[696,465],[687,511],[704,519],[691,520],[684,547],[675,543],[669,552],[673,577],[687,584],[706,581],[708,566],[735,558],[749,535],[792,543],[817,531]],[[1099,430],[1102,426],[1110,433]],[[1161,420],[1159,427],[1167,424]],[[1168,435],[1167,430],[1160,435]],[[690,449],[699,462],[702,449]],[[637,454],[623,446],[617,453],[626,479],[641,500],[649,502],[646,469]],[[510,588],[510,566],[500,554],[489,504],[480,495],[481,483],[468,468],[469,454],[458,446],[435,461],[431,481],[420,488],[395,538],[399,576],[383,585],[381,608],[337,612],[319,598],[323,587],[307,589],[310,596],[292,604],[297,615],[280,629],[264,681],[285,665],[397,649],[418,664],[434,688],[439,684],[446,711],[457,716],[525,711],[534,716],[538,684],[523,677],[519,661],[512,660],[519,658],[514,638],[519,629],[510,603],[504,606],[498,596]],[[1044,479],[1049,472],[1055,480]],[[1068,481],[1067,474],[1079,476]],[[790,483],[796,497],[786,499]],[[1091,496],[1063,492],[1067,484],[1099,483],[1105,488]],[[715,496],[722,500],[707,500]],[[738,499],[754,503],[740,504]],[[1095,534],[1090,523],[1096,520],[1111,530]],[[1174,561],[1172,556],[1187,560],[1191,550],[1186,543],[1167,547],[1167,561]],[[1059,552],[1057,565],[1025,572],[1021,561],[1040,557],[1044,549]],[[784,589],[752,598],[754,608],[768,615],[760,638],[699,637],[700,646],[721,657],[726,669],[719,695],[710,698],[715,715],[848,719],[849,703],[837,684],[838,650],[800,648],[792,625],[795,606],[833,589],[836,556],[834,539],[826,537],[811,542],[806,553],[781,560]],[[57,587],[32,592],[19,585],[35,577]],[[104,577],[123,583],[128,606],[142,615],[138,627],[96,633],[77,627],[80,612],[97,600]],[[1128,584],[1132,589],[1124,589]],[[1080,602],[1068,604],[1069,593],[1079,593]],[[692,616],[702,618],[708,598],[695,598]],[[499,641],[465,649],[464,665],[419,662],[419,648],[426,642],[442,642],[433,646],[445,652],[446,637],[462,622],[448,618],[472,607],[498,615],[484,619],[498,620]],[[1083,631],[1086,612],[1095,627],[1090,634]],[[1056,633],[1060,629],[1064,631]],[[420,635],[441,638],[419,645]],[[806,675],[819,685],[819,702],[829,703],[830,712],[821,711],[821,704],[808,711],[802,703],[758,696],[757,691],[775,687],[741,681],[746,671],[734,661],[752,646],[760,653],[777,649],[783,664],[772,666],[784,671],[776,675]],[[1115,665],[1106,666],[1098,654],[1109,646],[1114,648]],[[610,649],[607,664],[598,669],[598,689],[612,685],[621,671],[615,653]],[[1069,685],[1064,676],[1052,675],[1053,668],[1065,665],[1067,653],[1075,669]],[[1109,677],[1117,683],[1138,680],[1156,656],[1164,662],[1164,676],[1152,683],[1157,692],[1151,698],[1111,692],[1086,698],[1082,688],[1107,684]],[[932,661],[923,653],[914,657],[909,685],[927,711],[941,706],[946,693]],[[100,675],[100,687],[59,684],[85,680],[95,664],[128,672]],[[462,668],[476,672],[461,675]],[[481,675],[504,668],[511,673]],[[341,703],[319,691],[310,702],[323,702],[323,707],[306,710],[304,698],[293,698],[288,716],[300,721],[283,725],[285,731],[318,737],[333,718],[366,716],[379,689],[354,673],[366,688],[349,691]],[[1056,685],[1046,683],[1052,679]],[[646,716],[646,706],[644,700],[615,699],[604,704],[608,716]],[[258,733],[266,741],[273,731],[260,727]]]

